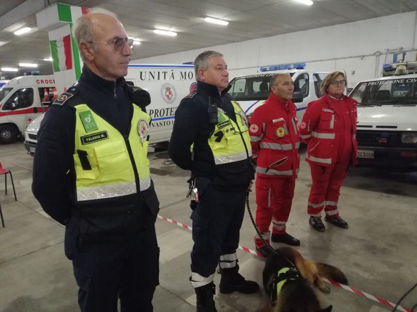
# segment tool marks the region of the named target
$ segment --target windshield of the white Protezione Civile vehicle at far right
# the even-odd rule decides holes
[[[349,96],[358,106],[416,105],[417,77],[363,82]]]

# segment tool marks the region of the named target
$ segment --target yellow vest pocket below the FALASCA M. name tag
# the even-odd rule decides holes
[[[113,141],[94,147],[98,169],[102,177],[129,172],[131,162],[122,141]]]

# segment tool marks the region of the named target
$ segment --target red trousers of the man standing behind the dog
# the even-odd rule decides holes
[[[256,182],[257,214],[256,223],[262,238],[269,244],[273,223],[273,234],[285,234],[286,223],[294,197],[295,177],[262,178],[257,176]],[[263,245],[258,236],[255,237],[258,247]]]

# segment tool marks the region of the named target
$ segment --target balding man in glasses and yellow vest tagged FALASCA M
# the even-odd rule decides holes
[[[131,40],[111,12],[80,17],[79,81],[50,106],[38,133],[32,190],[65,225],[82,312],[153,311],[159,202],[146,157],[149,94],[123,78]]]

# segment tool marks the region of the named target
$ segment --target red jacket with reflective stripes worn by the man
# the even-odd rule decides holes
[[[297,176],[300,136],[296,111],[292,101],[284,101],[271,93],[265,104],[257,107],[252,114],[249,134],[258,176]]]

